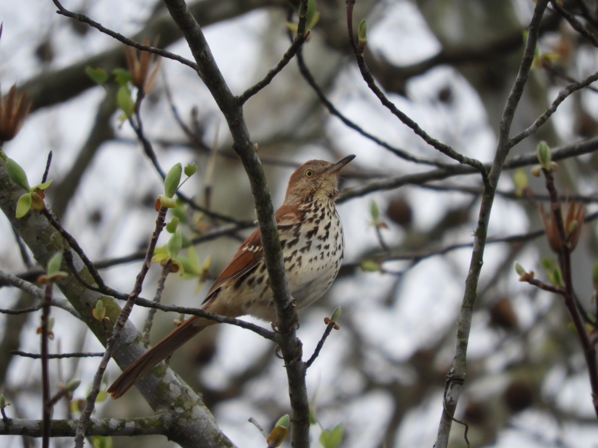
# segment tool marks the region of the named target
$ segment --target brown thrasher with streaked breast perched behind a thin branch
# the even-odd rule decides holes
[[[322,297],[338,274],[344,241],[334,200],[338,197],[338,171],[353,158],[355,155],[347,155],[335,163],[310,160],[301,165],[276,210],[287,280],[297,309]],[[202,309],[228,317],[252,315],[276,321],[260,229],[243,241],[216,278]],[[185,320],[121,373],[108,389],[112,398],[121,397],[160,361],[213,324],[216,321],[204,317]]]

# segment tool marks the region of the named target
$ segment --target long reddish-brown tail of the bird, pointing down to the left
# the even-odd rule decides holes
[[[131,386],[139,381],[149,370],[157,366],[160,361],[169,357],[172,352],[197,335],[206,327],[215,324],[213,320],[193,316],[176,327],[164,339],[149,349],[144,355],[133,361],[123,373],[108,388],[108,393],[115,400],[121,397]]]

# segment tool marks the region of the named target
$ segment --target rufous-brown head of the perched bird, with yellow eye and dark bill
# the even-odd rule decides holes
[[[337,162],[310,160],[292,174],[286,188],[285,204],[298,204],[307,198],[327,197],[334,200],[338,195],[338,171],[355,158],[347,155]]]

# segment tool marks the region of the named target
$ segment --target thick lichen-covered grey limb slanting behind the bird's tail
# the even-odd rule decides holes
[[[81,258],[75,251],[66,247],[59,232],[50,225],[43,214],[31,210],[25,217],[16,219],[17,200],[25,191],[11,182],[8,177],[5,161],[0,158],[0,209],[10,220],[11,225],[19,232],[28,245],[33,256],[41,265],[46,265],[50,257],[57,251],[70,251],[72,264],[80,277],[88,283],[93,279]],[[63,264],[64,271],[70,271]],[[114,300],[100,293],[86,289],[74,275],[56,284],[72,306],[81,315],[83,322],[106,345],[108,335],[102,324],[91,314],[97,300],[102,299],[106,305],[106,315],[115,322],[120,308]],[[126,348],[126,349],[123,349]],[[120,341],[114,352],[114,360],[121,366],[128,365],[144,353],[143,335],[129,321],[123,327]],[[146,376],[138,383],[138,388],[149,406],[154,410],[167,408],[172,412],[172,425],[168,426],[164,435],[183,447],[232,447],[233,443],[222,434],[215,419],[204,406],[201,398],[188,388],[170,369],[166,369],[163,378]],[[176,406],[172,406],[176,403]]]

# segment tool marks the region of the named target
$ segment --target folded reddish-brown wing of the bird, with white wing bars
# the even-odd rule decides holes
[[[292,226],[297,223],[297,220],[299,219],[295,207],[290,207],[288,205],[282,205],[276,210],[274,216],[276,217],[276,223],[279,229]],[[208,291],[208,294],[206,294],[206,298],[203,300],[202,305],[212,299],[225,282],[233,278],[239,278],[243,274],[251,271],[251,269],[254,269],[263,256],[264,250],[261,243],[260,229],[255,229],[252,234],[243,241],[241,246],[239,246],[237,253],[234,254],[233,259],[228,263],[226,268],[224,268],[220,275],[218,275],[218,278],[216,278],[216,281]]]

